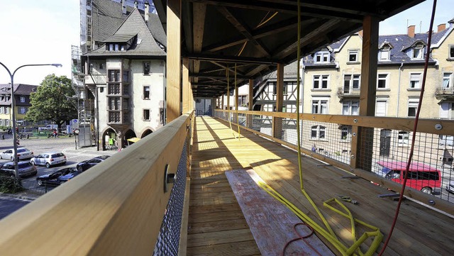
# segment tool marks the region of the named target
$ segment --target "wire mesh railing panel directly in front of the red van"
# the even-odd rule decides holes
[[[399,184],[404,183],[404,172],[411,152],[413,132],[370,128],[361,133],[360,141],[367,141],[359,152],[360,168]],[[453,179],[453,146],[445,135],[416,133],[406,187],[423,191],[448,201],[454,200],[449,184]],[[454,185],[454,182],[453,182]],[[448,189],[447,189],[448,188]],[[452,187],[454,191],[454,186]]]

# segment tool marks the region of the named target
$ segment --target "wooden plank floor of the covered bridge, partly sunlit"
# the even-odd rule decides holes
[[[228,184],[225,175],[228,170],[253,168],[267,184],[301,211],[315,220],[319,219],[301,194],[297,153],[294,150],[245,130],[241,130],[240,140],[233,134],[238,135],[226,123],[207,116],[196,117],[187,255],[260,255]],[[303,156],[302,162],[304,189],[319,206],[340,240],[348,245],[353,243],[350,222],[323,206],[323,201],[338,195],[357,200],[359,204],[345,202],[345,206],[355,218],[380,228],[384,239],[387,238],[397,206],[397,201],[378,197],[389,194],[387,189],[365,179],[345,178],[350,174],[323,165],[311,157]],[[357,236],[365,231],[365,228],[358,228]],[[452,255],[453,237],[452,218],[406,200],[384,255]],[[370,244],[370,240],[367,243]],[[328,247],[338,253],[331,245]],[[366,250],[367,245],[362,247],[362,252]]]

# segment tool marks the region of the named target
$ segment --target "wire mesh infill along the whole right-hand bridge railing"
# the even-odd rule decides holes
[[[232,112],[231,116],[233,116]],[[225,120],[228,120],[227,115],[228,113],[216,111],[216,116],[224,117]],[[245,125],[240,125],[269,136],[273,136],[272,129],[277,127],[274,137],[289,144],[296,146],[297,136],[300,135],[301,149],[320,160],[335,160],[350,166],[355,161],[358,168],[376,174],[377,178],[384,177],[402,184],[402,180],[387,177],[382,172],[384,167],[378,162],[404,165],[405,167],[406,161],[409,159],[413,132],[372,127],[355,129],[353,122],[352,125],[347,124],[348,122],[345,120],[343,123],[330,123],[325,121],[326,118],[311,116],[311,119],[314,120],[300,121],[298,133],[297,120],[293,116],[292,118],[277,117],[283,115],[275,112],[270,112],[270,115],[267,116],[263,111],[260,114],[240,113],[240,115],[246,120]],[[233,120],[236,123],[236,118],[232,118]],[[274,126],[273,122],[275,122]],[[389,120],[389,122],[394,121]],[[416,133],[412,163],[421,167],[418,167],[418,172],[415,172],[419,174],[414,174],[413,180],[407,181],[407,187],[431,193],[433,196],[454,203],[454,194],[448,191],[450,189],[454,192],[454,135],[435,133],[435,131],[434,133]],[[358,152],[355,152],[356,148],[353,148],[355,139],[359,145],[360,151]],[[432,169],[432,172],[428,174],[421,169]],[[424,175],[429,175],[431,181],[427,182],[428,177],[424,177]],[[450,184],[453,186],[450,187]]]

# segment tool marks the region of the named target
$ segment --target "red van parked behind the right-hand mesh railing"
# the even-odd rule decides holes
[[[393,182],[404,184],[406,162],[378,161],[377,164],[379,167],[377,174],[391,179]],[[427,194],[433,194],[435,189],[441,189],[441,172],[430,165],[412,162],[407,176],[407,187],[418,189]]]

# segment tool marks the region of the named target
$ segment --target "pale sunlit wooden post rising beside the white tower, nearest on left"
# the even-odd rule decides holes
[[[181,0],[167,1],[167,120],[180,116]]]

